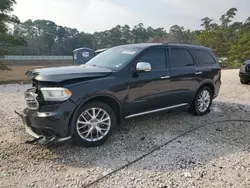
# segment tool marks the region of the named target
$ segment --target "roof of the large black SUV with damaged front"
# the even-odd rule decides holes
[[[169,46],[169,47],[188,47],[188,48],[194,48],[194,49],[203,49],[203,50],[210,50],[210,48],[199,45],[199,44],[182,44],[182,43],[139,43],[139,44],[126,44],[121,45],[123,47],[128,48],[149,48],[153,46]]]

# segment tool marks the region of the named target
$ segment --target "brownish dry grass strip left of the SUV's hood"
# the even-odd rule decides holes
[[[29,83],[30,78],[25,75],[25,72],[30,69],[40,68],[41,66],[32,65],[8,65],[10,70],[0,69],[0,84],[8,83]]]

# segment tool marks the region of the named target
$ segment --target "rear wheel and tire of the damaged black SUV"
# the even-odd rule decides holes
[[[205,96],[209,95],[209,97],[206,99],[204,98],[204,94],[206,94]],[[196,94],[195,99],[193,101],[193,104],[190,107],[190,111],[197,116],[203,116],[207,113],[210,112],[210,107],[212,105],[212,89],[210,87],[202,87]],[[206,100],[205,100],[206,99]],[[204,103],[202,106],[200,100],[204,100]]]

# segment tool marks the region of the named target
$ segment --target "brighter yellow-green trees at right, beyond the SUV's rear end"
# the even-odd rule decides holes
[[[227,60],[222,67],[239,68],[250,59],[250,17],[243,22],[232,23],[237,9],[231,8],[220,18],[220,24],[212,19],[202,19],[204,30],[197,35],[195,42],[212,48],[218,57]]]

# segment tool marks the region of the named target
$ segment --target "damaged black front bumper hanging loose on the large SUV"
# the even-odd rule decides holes
[[[24,109],[16,112],[23,120],[26,132],[34,138],[56,138],[65,140],[71,137],[70,117],[76,105],[70,101],[41,107],[38,111]]]

